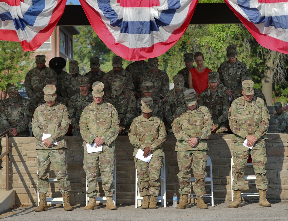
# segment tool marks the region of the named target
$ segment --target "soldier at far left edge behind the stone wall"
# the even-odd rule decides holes
[[[28,125],[33,113],[29,100],[20,96],[16,86],[9,87],[7,93],[9,98],[3,101],[0,108],[1,129],[9,130],[10,137],[30,136]]]

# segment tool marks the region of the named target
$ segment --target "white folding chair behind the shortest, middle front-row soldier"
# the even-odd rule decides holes
[[[161,205],[166,208],[166,168],[165,168],[165,153],[163,157],[163,166],[160,173],[161,181],[161,195],[156,198],[156,202],[161,202]],[[137,169],[135,168],[135,208],[141,206],[141,201],[143,202],[143,197],[140,196],[138,178],[137,178]]]

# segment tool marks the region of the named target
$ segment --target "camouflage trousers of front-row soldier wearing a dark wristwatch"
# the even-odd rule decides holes
[[[206,196],[205,171],[207,165],[206,150],[177,151],[177,161],[179,167],[178,179],[180,184],[179,193],[188,195],[191,191],[191,165],[195,177],[194,192],[196,196]]]

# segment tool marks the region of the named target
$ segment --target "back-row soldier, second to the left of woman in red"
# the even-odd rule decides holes
[[[149,58],[149,71],[145,72],[140,79],[140,87],[143,82],[150,81],[153,83],[153,96],[163,99],[169,91],[169,77],[168,74],[158,69],[158,58]]]

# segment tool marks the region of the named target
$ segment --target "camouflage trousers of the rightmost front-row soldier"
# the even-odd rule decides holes
[[[256,175],[257,190],[267,190],[266,178],[266,147],[265,141],[258,141],[252,150],[242,145],[243,143],[234,143],[233,162],[235,165],[233,173],[233,190],[242,190],[244,185],[244,170],[251,153],[252,163]]]

